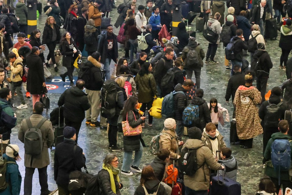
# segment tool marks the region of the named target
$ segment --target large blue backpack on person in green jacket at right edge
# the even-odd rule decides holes
[[[292,140],[276,139],[272,144],[271,160],[275,171],[288,171],[291,167],[291,146]]]

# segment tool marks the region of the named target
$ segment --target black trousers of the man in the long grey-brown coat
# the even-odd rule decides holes
[[[24,195],[31,195],[32,193],[32,182],[33,182],[33,173],[35,168],[26,167],[25,168],[25,176],[24,176],[24,185],[23,192]],[[39,182],[40,182],[40,194],[46,193],[48,191],[47,184],[47,166],[43,168],[38,168],[39,172]]]

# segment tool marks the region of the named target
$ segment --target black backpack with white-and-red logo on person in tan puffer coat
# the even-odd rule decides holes
[[[198,167],[197,149],[188,149],[185,147],[181,151],[181,157],[178,159],[180,173],[187,176],[193,176],[204,163]]]

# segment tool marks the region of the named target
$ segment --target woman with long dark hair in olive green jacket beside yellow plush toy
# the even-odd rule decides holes
[[[142,65],[142,68],[139,70],[137,76],[135,77],[136,88],[138,90],[138,101],[142,103],[142,107],[140,108],[140,110],[144,112],[143,116],[145,116],[146,106],[147,109],[150,110],[154,98],[157,97],[156,82],[151,72],[151,64],[149,62],[145,62]],[[151,115],[148,115],[149,126],[152,126],[152,121],[153,117]],[[142,123],[141,125],[142,127],[144,127],[145,123]]]

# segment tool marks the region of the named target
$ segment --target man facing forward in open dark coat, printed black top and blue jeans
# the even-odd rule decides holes
[[[114,60],[114,62],[117,63],[119,56],[117,35],[113,33],[113,26],[111,24],[107,26],[107,33],[101,34],[97,51],[101,55],[101,63],[104,64],[103,69],[105,70],[105,78],[106,80],[109,80],[111,77],[111,60]]]

